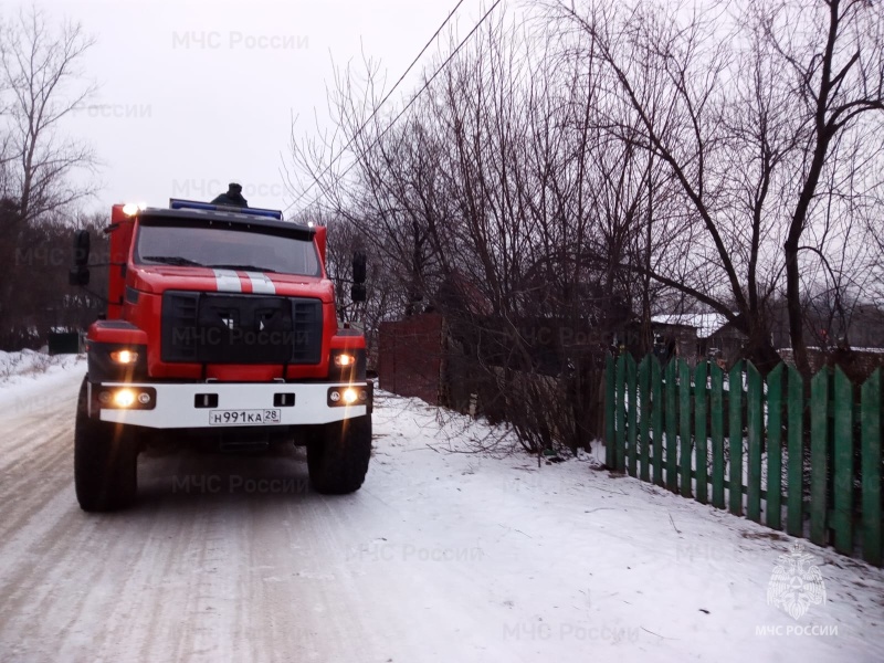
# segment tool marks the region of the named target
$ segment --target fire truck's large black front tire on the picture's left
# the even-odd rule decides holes
[[[74,486],[80,508],[108,512],[135,502],[138,445],[130,428],[90,419],[86,379],[80,388],[74,428]]]

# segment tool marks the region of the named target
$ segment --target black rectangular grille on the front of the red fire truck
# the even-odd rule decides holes
[[[318,364],[319,299],[167,292],[162,295],[162,361]]]

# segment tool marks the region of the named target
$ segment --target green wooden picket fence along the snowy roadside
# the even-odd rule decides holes
[[[606,463],[882,566],[882,371],[822,369],[809,394],[786,365],[609,356]]]

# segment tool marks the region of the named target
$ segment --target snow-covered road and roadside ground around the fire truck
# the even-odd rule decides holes
[[[0,387],[0,661],[884,661],[882,570],[801,541],[825,601],[793,619],[789,537],[586,456],[448,452],[483,427],[385,393],[354,495],[301,451],[152,452],[86,515],[84,370]]]

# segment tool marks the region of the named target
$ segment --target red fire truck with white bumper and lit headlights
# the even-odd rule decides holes
[[[371,455],[361,332],[338,323],[326,229],[187,200],[114,206],[106,314],[88,328],[74,434],[80,506],[130,505],[151,440],[307,448],[313,487],[350,493]],[[90,235],[71,284],[90,282]],[[366,262],[354,256],[354,301]]]

